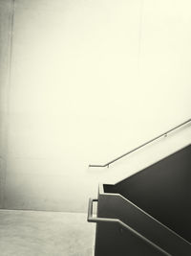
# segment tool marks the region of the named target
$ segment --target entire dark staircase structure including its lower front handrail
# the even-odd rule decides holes
[[[95,256],[190,256],[190,181],[188,145],[116,184],[100,184],[88,212]]]

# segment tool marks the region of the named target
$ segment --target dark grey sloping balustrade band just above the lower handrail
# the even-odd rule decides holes
[[[170,255],[191,255],[191,244],[118,194],[100,193],[98,195],[97,217],[122,221]],[[105,232],[109,234],[109,231],[105,230]],[[114,240],[115,244],[119,243],[117,240],[120,240],[120,237]],[[130,241],[127,240],[126,244],[129,243]]]

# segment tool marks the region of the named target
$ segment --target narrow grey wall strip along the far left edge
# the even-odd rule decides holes
[[[0,208],[4,207],[11,75],[12,1],[0,1]]]

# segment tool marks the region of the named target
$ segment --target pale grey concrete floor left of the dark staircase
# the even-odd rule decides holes
[[[1,256],[92,256],[86,214],[0,210]]]

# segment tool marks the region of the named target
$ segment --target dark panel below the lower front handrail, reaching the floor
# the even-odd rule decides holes
[[[163,256],[155,247],[116,222],[96,224],[95,256]]]

